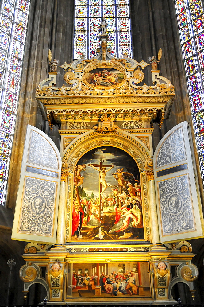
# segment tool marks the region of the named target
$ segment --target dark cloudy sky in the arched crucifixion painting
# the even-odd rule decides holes
[[[95,148],[85,153],[77,163],[77,165],[87,165],[86,171],[83,171],[81,174],[84,177],[82,187],[89,195],[93,191],[94,195],[98,196],[99,172],[93,169],[91,166],[88,166],[88,164],[100,164],[100,159],[104,160],[103,164],[110,166],[114,165],[114,168],[106,173],[106,182],[113,186],[117,185],[117,180],[111,174],[117,172],[118,168],[124,168],[123,171],[132,173],[135,179],[140,178],[137,164],[128,153],[111,146]],[[106,167],[106,170],[108,168],[109,167]],[[134,182],[135,181],[132,183]],[[111,187],[108,187],[104,193],[110,193],[111,189]]]

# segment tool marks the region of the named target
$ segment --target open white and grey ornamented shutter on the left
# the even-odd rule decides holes
[[[55,243],[61,166],[52,140],[28,125],[12,239]]]

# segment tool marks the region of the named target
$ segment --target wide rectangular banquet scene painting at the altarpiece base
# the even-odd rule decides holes
[[[148,262],[68,263],[67,297],[150,298]]]

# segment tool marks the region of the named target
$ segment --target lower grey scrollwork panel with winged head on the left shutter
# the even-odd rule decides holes
[[[18,231],[35,235],[52,235],[56,182],[25,177]]]

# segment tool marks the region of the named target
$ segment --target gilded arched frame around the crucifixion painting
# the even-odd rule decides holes
[[[74,169],[79,159],[89,150],[101,146],[113,146],[127,152],[136,162],[140,170],[141,195],[144,218],[145,241],[152,241],[150,233],[149,203],[148,203],[148,181],[146,177],[147,161],[152,161],[148,148],[134,135],[117,129],[115,132],[99,133],[89,130],[76,137],[64,150],[63,161],[66,168],[71,169],[67,178],[67,211],[66,211],[66,234],[64,242],[71,242],[71,219]],[[131,240],[132,242],[132,240]]]

